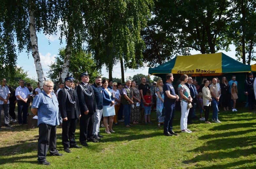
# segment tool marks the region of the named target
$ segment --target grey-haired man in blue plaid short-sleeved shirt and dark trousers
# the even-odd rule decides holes
[[[51,156],[63,156],[56,149],[56,125],[59,125],[58,114],[59,104],[58,99],[52,93],[53,82],[46,80],[43,85],[44,91],[35,96],[31,111],[38,116],[37,126],[39,129],[38,138],[38,163],[49,165],[46,161],[46,154],[50,145]]]

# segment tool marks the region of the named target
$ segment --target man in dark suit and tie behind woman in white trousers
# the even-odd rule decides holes
[[[192,77],[188,77],[187,78],[187,83],[185,83],[185,85],[188,87],[188,89],[190,91],[190,95],[191,95],[193,100],[192,100],[192,103],[191,103],[192,108],[190,108],[189,112],[188,112],[187,124],[192,124],[192,115],[193,115],[193,112],[196,109],[197,96],[198,96],[196,87],[192,83],[193,83]]]

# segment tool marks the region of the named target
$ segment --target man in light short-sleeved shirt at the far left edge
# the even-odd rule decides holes
[[[2,111],[2,108],[4,108],[5,127],[10,127],[9,98],[10,98],[10,90],[6,85],[6,79],[3,79],[2,85],[0,85],[0,126],[1,126],[1,111]]]

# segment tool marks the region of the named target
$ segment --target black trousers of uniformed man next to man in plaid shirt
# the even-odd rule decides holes
[[[64,149],[69,148],[69,145],[76,145],[75,141],[75,130],[76,130],[76,119],[68,119],[62,121],[62,144]]]

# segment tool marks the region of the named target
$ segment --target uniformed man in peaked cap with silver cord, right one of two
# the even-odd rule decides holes
[[[82,82],[76,89],[81,111],[79,141],[83,146],[88,146],[87,141],[98,143],[93,138],[94,113],[96,113],[97,104],[94,91],[89,85],[89,74],[84,72],[80,77]]]

